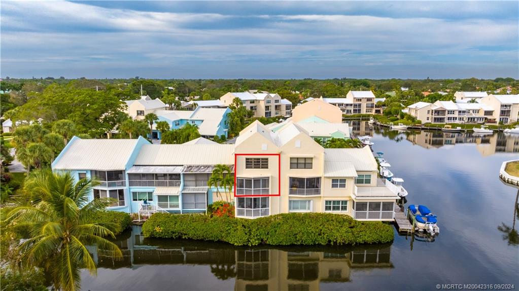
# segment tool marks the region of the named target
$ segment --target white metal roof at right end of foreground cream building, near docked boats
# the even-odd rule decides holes
[[[357,171],[377,171],[369,146],[363,148],[325,148],[324,161],[351,162]]]

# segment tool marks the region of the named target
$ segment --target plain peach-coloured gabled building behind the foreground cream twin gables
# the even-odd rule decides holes
[[[343,112],[337,106],[325,102],[322,98],[312,99],[297,105],[292,110],[292,121],[299,122],[316,116],[332,123],[343,122]]]

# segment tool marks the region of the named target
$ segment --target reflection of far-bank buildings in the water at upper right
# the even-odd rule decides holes
[[[354,134],[381,134],[393,141],[407,140],[424,148],[441,148],[460,144],[474,144],[483,157],[496,153],[519,153],[519,134],[477,134],[473,132],[443,132],[429,130],[395,131],[371,126],[367,121],[348,121]]]

